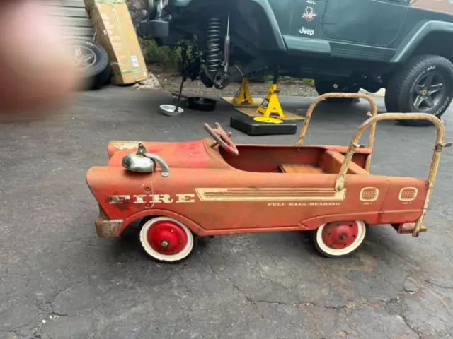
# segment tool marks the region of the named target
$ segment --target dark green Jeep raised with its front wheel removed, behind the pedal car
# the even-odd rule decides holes
[[[440,117],[453,97],[453,0],[148,1],[137,34],[190,40],[188,74],[222,89],[278,68],[328,92],[386,88],[388,112]],[[413,121],[406,121],[413,124]]]

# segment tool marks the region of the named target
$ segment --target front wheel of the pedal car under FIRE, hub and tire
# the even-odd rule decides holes
[[[178,263],[188,258],[195,249],[195,238],[182,222],[159,217],[144,222],[140,230],[144,251],[161,263]]]

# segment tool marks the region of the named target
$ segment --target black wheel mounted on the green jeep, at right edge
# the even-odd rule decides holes
[[[432,80],[429,82],[430,78]],[[427,85],[427,81],[430,83],[429,85]],[[442,90],[430,95],[432,90],[428,88],[434,89],[432,86],[439,86],[440,84],[442,84]],[[423,95],[425,91],[426,95]],[[420,96],[431,97],[431,100],[423,99],[417,106],[418,101],[415,100]],[[386,87],[385,106],[387,112],[428,113],[440,118],[449,107],[452,99],[452,62],[438,55],[418,55],[412,57],[391,76]],[[431,105],[432,107],[430,107]],[[429,126],[432,124],[430,121],[424,120],[400,120],[398,122],[407,126]]]

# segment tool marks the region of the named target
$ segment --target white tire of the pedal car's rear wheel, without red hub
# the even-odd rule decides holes
[[[350,244],[350,246],[346,247],[345,249],[333,249],[323,242],[322,233],[324,227],[326,227],[327,224],[320,226],[316,231],[314,231],[314,246],[319,251],[319,253],[328,258],[345,258],[346,256],[350,256],[360,248],[360,246],[365,241],[365,236],[367,235],[367,225],[365,225],[365,222],[355,221],[355,223],[357,224],[357,227],[359,229],[357,238],[355,239],[355,242]]]

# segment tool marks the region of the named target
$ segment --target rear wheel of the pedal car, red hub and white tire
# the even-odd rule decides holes
[[[365,240],[367,225],[363,221],[329,222],[313,234],[314,246],[328,258],[345,258],[353,254]]]

